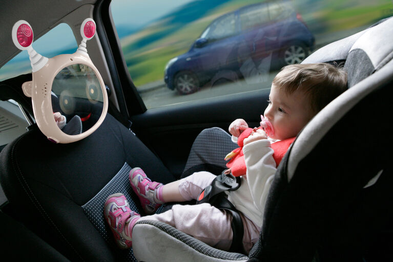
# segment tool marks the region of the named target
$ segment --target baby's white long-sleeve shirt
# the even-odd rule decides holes
[[[267,194],[277,170],[273,152],[271,141],[267,139],[243,146],[247,173],[241,177],[241,186],[228,193],[228,200],[235,208],[259,227],[262,227]]]

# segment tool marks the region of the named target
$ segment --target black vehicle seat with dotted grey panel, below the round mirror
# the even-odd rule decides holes
[[[125,193],[131,203],[137,200],[124,184],[126,164],[141,167],[155,181],[175,180],[129,129],[108,114],[92,135],[70,144],[54,144],[32,128],[2,150],[0,179],[10,213],[68,259],[136,261],[132,250],[115,246],[103,214],[111,193]],[[142,210],[139,201],[133,205]]]

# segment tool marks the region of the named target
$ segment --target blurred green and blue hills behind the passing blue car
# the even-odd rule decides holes
[[[117,25],[116,12],[113,10],[121,47],[134,84],[138,87],[162,80],[166,63],[171,58],[187,52],[212,20],[242,6],[260,2],[256,0],[193,1],[134,30],[131,22],[129,27]],[[386,0],[291,2],[315,35],[317,49],[393,15],[393,5],[391,1]]]

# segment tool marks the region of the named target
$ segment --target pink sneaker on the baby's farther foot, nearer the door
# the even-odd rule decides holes
[[[152,182],[140,167],[131,169],[129,179],[143,210],[147,214],[153,214],[164,203],[159,200],[159,198],[162,199],[162,188],[160,188],[162,184]]]

